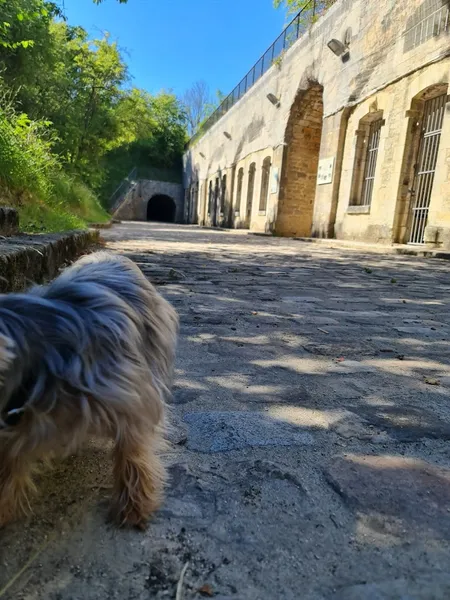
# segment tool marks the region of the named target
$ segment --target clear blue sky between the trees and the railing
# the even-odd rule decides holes
[[[61,0],[62,3],[62,0]],[[108,31],[125,54],[133,84],[182,94],[204,80],[230,92],[283,29],[272,0],[64,0],[71,25]]]

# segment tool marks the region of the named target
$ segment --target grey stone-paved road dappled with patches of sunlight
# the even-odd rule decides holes
[[[449,263],[192,226],[104,237],[181,316],[167,501],[144,534],[105,525],[93,444],[0,537],[5,597],[175,599],[188,563],[185,600],[450,598]]]

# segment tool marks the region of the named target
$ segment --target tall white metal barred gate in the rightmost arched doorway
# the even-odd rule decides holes
[[[411,208],[410,244],[423,244],[434,173],[441,141],[447,94],[425,102]]]

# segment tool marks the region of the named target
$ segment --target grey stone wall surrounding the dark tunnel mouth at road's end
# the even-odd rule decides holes
[[[124,221],[146,221],[148,202],[157,195],[168,196],[176,206],[175,222],[184,221],[183,185],[167,181],[141,179],[128,192],[114,217]]]

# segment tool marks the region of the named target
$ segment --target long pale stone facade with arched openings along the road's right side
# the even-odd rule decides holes
[[[449,93],[449,10],[447,0],[338,0],[186,151],[184,186],[189,189],[195,185],[199,190],[193,200],[196,220],[283,235],[407,241],[411,215],[408,190],[414,183],[411,164],[417,158],[411,149],[411,129],[420,127],[424,94]],[[350,54],[345,60],[327,47],[333,38],[349,40]],[[308,120],[302,116],[308,112],[306,92],[318,86],[323,89],[321,134],[318,122],[312,128],[314,133],[306,131],[310,127],[302,123],[304,118]],[[268,94],[278,98],[279,104],[269,102]],[[382,112],[385,123],[372,202],[365,210],[355,210],[349,204],[358,163],[357,132],[361,120],[377,111]],[[314,112],[317,117],[320,109]],[[319,150],[312,141],[318,136]],[[262,212],[260,186],[267,157],[271,159],[271,180],[267,208]],[[321,185],[312,193],[318,165]],[[250,167],[255,169],[255,181],[248,218]],[[236,211],[240,169],[244,178]],[[324,172],[329,174],[323,176]],[[216,223],[211,223],[209,185],[212,183],[214,189],[216,179],[224,174],[227,206]],[[432,190],[425,241],[450,248],[448,105]]]

